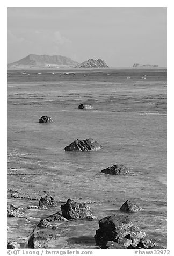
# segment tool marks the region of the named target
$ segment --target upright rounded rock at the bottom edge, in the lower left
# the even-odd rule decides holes
[[[44,234],[44,231],[39,227],[35,227],[33,232],[30,234],[30,238],[28,239],[28,248],[29,249],[40,249],[47,248],[48,240]]]

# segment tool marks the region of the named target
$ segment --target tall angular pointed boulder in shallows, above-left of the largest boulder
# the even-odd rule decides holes
[[[78,203],[68,199],[66,204],[61,205],[62,215],[66,219],[79,219],[80,209]]]

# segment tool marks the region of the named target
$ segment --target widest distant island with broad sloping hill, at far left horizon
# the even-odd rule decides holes
[[[78,62],[61,55],[36,55],[30,54],[25,58],[8,64],[8,68],[15,67],[74,67]]]

